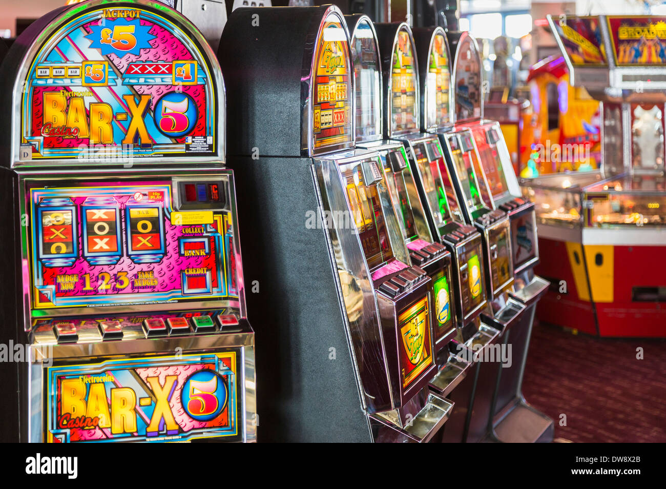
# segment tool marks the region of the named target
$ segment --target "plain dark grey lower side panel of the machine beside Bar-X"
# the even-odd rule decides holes
[[[230,157],[257,340],[260,441],[370,441],[310,159]],[[311,217],[308,220],[308,217]],[[314,227],[308,225],[314,223]],[[334,349],[333,349],[334,348]]]

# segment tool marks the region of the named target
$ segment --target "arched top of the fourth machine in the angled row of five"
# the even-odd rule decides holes
[[[451,87],[451,54],[442,27],[413,29],[418,57],[421,60],[421,130],[432,131],[453,123]]]

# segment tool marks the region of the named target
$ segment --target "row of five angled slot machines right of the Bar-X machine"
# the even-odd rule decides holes
[[[521,394],[548,283],[476,41],[333,6],[238,9],[218,59],[264,290],[248,310],[270,325],[262,436],[551,440]]]

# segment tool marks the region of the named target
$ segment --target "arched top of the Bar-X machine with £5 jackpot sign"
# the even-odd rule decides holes
[[[163,3],[61,7],[21,34],[1,79],[11,83],[11,166],[224,159],[219,65],[196,27]]]

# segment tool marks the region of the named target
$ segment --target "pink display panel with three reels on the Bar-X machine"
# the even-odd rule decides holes
[[[222,199],[222,183],[192,186]],[[170,181],[29,189],[33,306],[237,302],[230,212],[178,212],[173,193]]]

